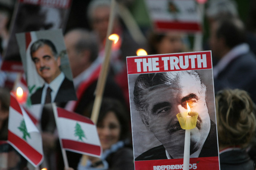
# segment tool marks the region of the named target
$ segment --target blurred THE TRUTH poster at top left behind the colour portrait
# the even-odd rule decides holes
[[[10,39],[3,51],[1,70],[23,71],[15,34],[65,29],[72,0],[18,0],[10,24]]]

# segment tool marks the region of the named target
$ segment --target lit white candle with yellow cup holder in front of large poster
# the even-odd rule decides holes
[[[184,143],[184,156],[183,156],[183,170],[189,170],[190,164],[190,129],[196,127],[198,118],[197,112],[190,111],[190,106],[187,102],[187,112],[178,113],[176,116],[182,129],[185,129],[185,143]]]

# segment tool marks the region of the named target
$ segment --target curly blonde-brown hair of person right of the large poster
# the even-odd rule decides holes
[[[245,148],[256,128],[254,103],[246,91],[219,91],[215,97],[220,146]]]

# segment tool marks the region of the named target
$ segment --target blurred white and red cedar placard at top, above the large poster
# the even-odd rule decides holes
[[[201,15],[195,0],[145,0],[157,32],[201,32]]]

